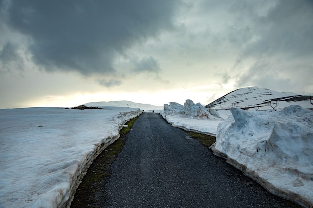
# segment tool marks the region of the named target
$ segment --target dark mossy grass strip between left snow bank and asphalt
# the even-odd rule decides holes
[[[111,164],[124,146],[126,135],[137,118],[138,117],[129,120],[126,123],[128,127],[123,127],[119,131],[119,139],[104,149],[92,162],[76,190],[70,208],[101,207],[101,198],[97,196],[97,192],[102,187],[102,182],[110,177]]]

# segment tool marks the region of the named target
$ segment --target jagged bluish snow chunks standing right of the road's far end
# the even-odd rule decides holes
[[[164,104],[164,111],[161,112],[163,117],[167,115],[179,115],[183,117],[206,118],[211,120],[222,120],[221,116],[214,109],[207,109],[201,103],[194,104],[192,100],[186,100],[184,105],[170,102]]]

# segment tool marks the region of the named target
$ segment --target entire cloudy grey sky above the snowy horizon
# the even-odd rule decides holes
[[[0,0],[0,108],[313,93],[312,0]]]

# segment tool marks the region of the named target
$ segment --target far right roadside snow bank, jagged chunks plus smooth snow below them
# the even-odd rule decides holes
[[[184,105],[175,102],[164,104],[160,114],[174,127],[212,136],[216,136],[217,126],[224,120],[214,109],[194,104],[192,100],[186,100]]]

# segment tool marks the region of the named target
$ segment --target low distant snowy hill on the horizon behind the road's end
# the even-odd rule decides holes
[[[163,106],[155,106],[155,105],[150,105],[150,104],[135,103],[135,102],[126,101],[126,100],[109,101],[109,102],[90,102],[90,103],[85,103],[84,105],[86,105],[86,106],[97,106],[97,107],[112,106],[112,107],[140,108],[141,110],[144,110],[144,111],[163,109]]]

